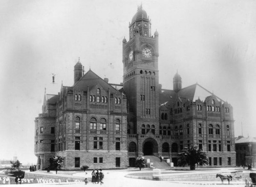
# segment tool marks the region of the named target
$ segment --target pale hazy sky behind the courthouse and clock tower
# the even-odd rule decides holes
[[[80,58],[122,82],[122,39],[138,6],[159,33],[159,83],[198,83],[233,107],[234,135],[256,136],[256,1],[0,1],[0,159],[36,163],[34,120],[44,92],[72,86]],[[55,84],[52,84],[55,74]]]

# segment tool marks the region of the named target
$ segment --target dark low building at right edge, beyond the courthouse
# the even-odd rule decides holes
[[[256,167],[256,137],[239,136],[235,139],[237,166]]]

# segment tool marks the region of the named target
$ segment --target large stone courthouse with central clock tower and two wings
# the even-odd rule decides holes
[[[212,167],[236,166],[232,106],[199,84],[173,90],[159,84],[158,32],[138,8],[123,39],[123,83],[114,85],[78,61],[74,85],[61,85],[58,95],[45,93],[35,119],[35,155],[45,169],[54,155],[62,169],[133,167],[136,157],[170,158],[187,146],[198,146]]]

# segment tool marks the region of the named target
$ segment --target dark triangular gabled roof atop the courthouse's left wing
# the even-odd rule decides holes
[[[101,79],[93,71],[91,71],[91,69],[86,74],[84,74],[84,76],[79,81],[77,81],[74,84],[73,88],[79,87],[80,90],[87,90],[88,86],[89,86],[89,89],[91,89],[97,84],[100,84],[104,90],[110,89],[111,92],[118,91],[109,83]]]

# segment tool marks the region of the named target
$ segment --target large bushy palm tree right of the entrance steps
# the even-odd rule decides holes
[[[198,149],[197,146],[186,147],[181,153],[178,154],[178,166],[185,166],[186,164],[190,167],[190,170],[195,170],[196,165],[200,163],[208,165],[208,157],[202,149]]]

